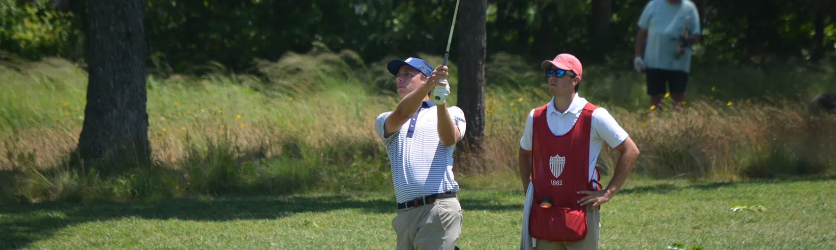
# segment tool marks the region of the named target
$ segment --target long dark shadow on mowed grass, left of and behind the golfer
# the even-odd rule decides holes
[[[460,198],[464,209],[512,210],[522,207],[497,204],[489,198]],[[55,232],[79,223],[120,218],[230,221],[275,219],[293,213],[323,213],[359,209],[361,213],[395,213],[394,201],[385,196],[299,195],[290,197],[173,200],[160,203],[38,203],[0,206],[0,249],[27,248]],[[394,216],[394,215],[393,215]]]

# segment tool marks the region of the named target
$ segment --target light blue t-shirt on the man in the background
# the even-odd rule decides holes
[[[666,0],[651,0],[639,18],[639,28],[647,30],[645,43],[645,68],[691,72],[691,49],[686,48],[676,58],[677,38],[688,23],[690,35],[700,34],[700,14],[694,2],[681,0],[670,3]]]

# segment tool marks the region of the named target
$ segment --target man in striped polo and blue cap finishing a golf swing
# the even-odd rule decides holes
[[[446,79],[447,67],[433,71],[430,63],[410,57],[392,60],[386,68],[396,77],[400,103],[377,117],[375,130],[389,154],[395,184],[396,249],[456,249],[462,216],[453,150],[466,123],[461,108],[446,106],[446,82],[437,81]],[[430,98],[434,91],[440,98]]]

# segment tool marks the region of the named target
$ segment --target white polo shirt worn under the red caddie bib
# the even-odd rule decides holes
[[[574,123],[578,121],[580,112],[584,110],[584,106],[588,102],[586,99],[579,97],[575,93],[572,103],[569,104],[566,112],[558,112],[554,108],[554,97],[552,101],[548,102],[546,108],[546,121],[548,122],[548,130],[551,130],[554,135],[563,135],[572,129]],[[528,113],[528,119],[525,122],[525,130],[523,130],[523,138],[520,140],[520,148],[531,150],[532,133],[534,123],[534,109]],[[609,115],[604,107],[598,107],[592,112],[592,131],[590,131],[589,140],[589,180],[598,178],[595,173],[595,163],[598,162],[598,155],[601,153],[601,148],[604,142],[609,144],[609,147],[618,147],[627,139],[628,134],[624,128],[615,122],[615,118]]]

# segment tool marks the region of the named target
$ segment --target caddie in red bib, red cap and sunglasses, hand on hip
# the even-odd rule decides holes
[[[540,67],[553,97],[528,114],[520,140],[526,190],[520,248],[598,249],[599,206],[619,192],[639,149],[606,109],[579,97],[584,70],[577,57],[559,54]],[[620,157],[601,189],[595,163],[604,143]]]

